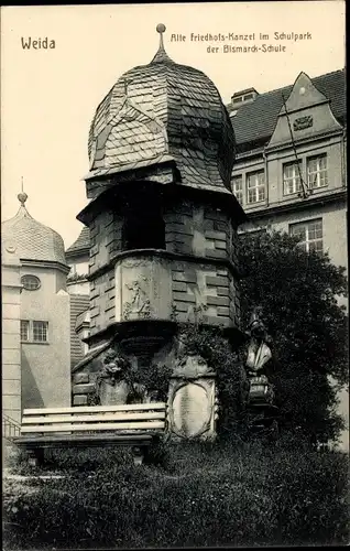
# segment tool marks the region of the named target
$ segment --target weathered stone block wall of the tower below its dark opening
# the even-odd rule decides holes
[[[164,205],[163,219],[164,256],[130,250],[117,259],[122,217],[108,210],[89,224],[91,336],[113,322],[171,320],[174,311],[178,321],[190,321],[203,306],[207,323],[239,325],[238,237],[229,214],[177,198]]]

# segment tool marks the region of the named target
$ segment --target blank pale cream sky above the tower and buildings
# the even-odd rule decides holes
[[[289,85],[344,67],[344,2],[222,2],[6,7],[1,9],[1,218],[17,213],[23,177],[26,207],[68,247],[87,204],[87,140],[98,104],[116,80],[147,64],[158,47],[157,23],[177,63],[208,75],[228,104],[234,91]],[[275,40],[274,33],[304,40]],[[223,53],[223,43],[190,41],[193,34],[253,34],[250,42],[285,45],[285,52]],[[260,40],[260,33],[269,40]],[[309,34],[307,34],[309,33]],[[172,35],[185,35],[185,41]],[[23,48],[47,37],[55,48]],[[208,53],[208,45],[220,46]]]

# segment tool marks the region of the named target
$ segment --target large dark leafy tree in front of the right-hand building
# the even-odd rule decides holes
[[[240,249],[242,324],[262,305],[274,341],[267,369],[281,428],[336,440],[343,428],[337,391],[348,381],[348,317],[337,300],[347,296],[346,269],[277,231],[244,235]]]

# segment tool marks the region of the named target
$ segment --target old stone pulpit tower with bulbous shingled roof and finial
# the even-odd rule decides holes
[[[239,333],[233,129],[212,82],[173,62],[156,30],[151,63],[117,80],[90,127],[78,215],[90,234],[90,352],[76,382],[111,342],[146,369],[174,363],[179,322]]]

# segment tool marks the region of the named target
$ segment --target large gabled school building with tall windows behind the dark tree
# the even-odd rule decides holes
[[[275,228],[347,266],[346,74],[335,71],[258,94],[233,94],[228,106],[237,158],[232,191],[249,223]]]

